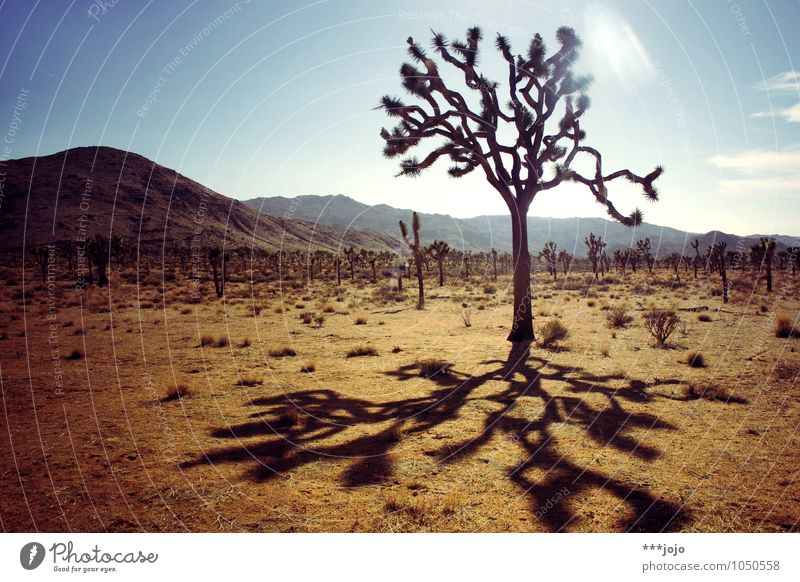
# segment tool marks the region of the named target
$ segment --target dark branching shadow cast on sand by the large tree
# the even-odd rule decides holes
[[[526,495],[531,513],[549,531],[573,529],[579,516],[570,507],[570,497],[605,492],[622,507],[621,517],[611,529],[660,532],[681,529],[687,512],[677,503],[661,499],[645,487],[606,475],[592,466],[580,466],[559,452],[553,428],[557,425],[582,429],[598,449],[608,447],[632,459],[654,462],[661,451],[641,442],[634,431],[674,431],[676,427],[646,412],[625,409],[624,401],[647,404],[671,396],[648,391],[648,386],[621,375],[589,375],[582,368],[568,368],[530,356],[527,346],[512,351],[506,360],[482,362],[492,366],[480,375],[450,370],[427,380],[434,388],[421,396],[388,402],[343,396],[335,390],[298,390],[259,398],[250,404],[259,410],[253,420],[212,431],[219,439],[260,437],[261,442],[243,442],[202,453],[183,463],[237,463],[252,465],[248,475],[256,482],[286,476],[294,469],[320,460],[349,462],[341,485],[379,485],[394,471],[392,451],[406,435],[426,433],[458,419],[471,401],[500,405],[484,412],[481,427],[473,437],[442,447],[432,454],[440,463],[463,461],[497,436],[522,449],[524,461],[507,468],[508,478]],[[386,372],[398,381],[420,378],[415,365]],[[488,382],[494,382],[486,386]],[[557,385],[546,390],[543,383]],[[657,385],[678,384],[665,380]],[[499,385],[499,389],[494,389]],[[614,387],[617,385],[617,387]],[[483,388],[483,394],[475,394]],[[486,391],[488,394],[485,394]],[[602,396],[605,406],[593,406],[587,395]],[[540,412],[530,414],[532,406]],[[296,412],[294,412],[296,411]],[[299,413],[299,414],[298,414]],[[534,478],[531,475],[543,475]],[[557,500],[554,502],[554,500]]]

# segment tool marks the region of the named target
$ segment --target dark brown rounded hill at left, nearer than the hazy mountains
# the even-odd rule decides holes
[[[143,156],[80,147],[5,162],[0,249],[113,234],[144,247],[193,237],[202,245],[255,245],[275,250],[394,248],[392,236],[342,232],[275,217],[206,188]]]

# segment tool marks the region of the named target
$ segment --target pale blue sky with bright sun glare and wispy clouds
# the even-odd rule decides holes
[[[609,189],[623,213],[800,235],[798,22],[797,0],[0,0],[0,154],[106,145],[239,199],[506,214],[479,171],[452,179],[443,160],[395,178],[379,136],[394,122],[375,107],[384,94],[413,101],[398,74],[409,36],[427,47],[431,29],[455,39],[480,26],[480,70],[502,91],[498,32],[524,54],[534,33],[554,47],[569,25],[593,77],[586,143],[608,171],[666,168],[656,203]],[[530,214],[605,216],[576,184]]]

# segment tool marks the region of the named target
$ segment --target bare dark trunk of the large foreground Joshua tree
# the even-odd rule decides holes
[[[528,250],[528,221],[525,212],[511,212],[511,246],[514,268],[514,319],[508,341],[529,343],[536,339],[533,333],[531,308],[531,255]]]

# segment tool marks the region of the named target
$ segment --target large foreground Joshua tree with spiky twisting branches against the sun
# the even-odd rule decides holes
[[[389,158],[406,154],[425,138],[444,139],[422,160],[403,159],[398,175],[418,176],[438,159],[449,157],[454,164],[449,170],[452,177],[480,168],[503,198],[511,213],[514,269],[514,316],[508,339],[524,345],[534,339],[527,215],[536,195],[564,181],[574,181],[585,186],[611,217],[636,226],[642,220],[641,212],[634,210],[624,216],[617,211],[608,198],[607,186],[625,178],[640,185],[647,198],[656,200],[653,182],[662,169],[657,167],[644,177],[627,169],[604,173],[600,152],[582,145],[585,134],[580,120],[590,103],[584,93],[590,79],[575,76],[572,71],[581,45],[573,29],[558,29],[559,46],[550,56],[538,34],[527,56],[516,58],[508,39],[497,35],[495,46],[507,65],[505,98],[500,96],[500,85],[477,69],[482,36],[478,27],[467,31],[465,41],[449,42],[438,33],[433,36],[435,52],[463,74],[481,110],[471,109],[461,93],[445,85],[437,63],[409,37],[409,55],[424,70],[405,63],[400,75],[403,87],[422,103],[406,105],[397,98],[383,97],[380,108],[399,123],[391,131],[382,129],[381,137],[386,142],[384,155]],[[509,133],[514,134],[513,139],[504,143],[501,138]],[[584,176],[572,168],[579,154],[594,162],[593,175]]]

